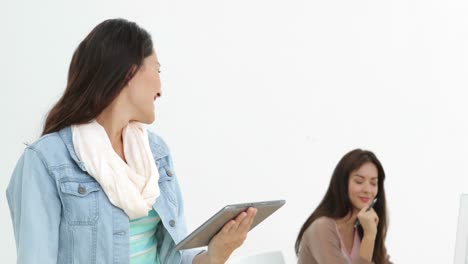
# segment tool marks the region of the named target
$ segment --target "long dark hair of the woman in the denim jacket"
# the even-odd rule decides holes
[[[74,52],[65,92],[49,111],[42,135],[96,118],[153,51],[150,34],[134,22],[97,25]]]

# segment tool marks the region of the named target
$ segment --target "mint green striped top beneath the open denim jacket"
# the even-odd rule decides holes
[[[131,264],[160,264],[155,236],[160,221],[154,209],[148,216],[130,220]]]

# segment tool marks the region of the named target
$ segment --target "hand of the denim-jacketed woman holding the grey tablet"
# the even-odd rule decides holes
[[[236,219],[226,223],[221,231],[211,239],[207,252],[211,264],[225,263],[232,252],[244,243],[256,214],[256,208],[247,209],[246,212],[240,213]]]

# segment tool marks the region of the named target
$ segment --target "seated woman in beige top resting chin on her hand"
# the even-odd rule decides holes
[[[322,202],[299,232],[298,264],[391,263],[385,248],[384,180],[384,169],[374,153],[356,149],[346,154]]]

